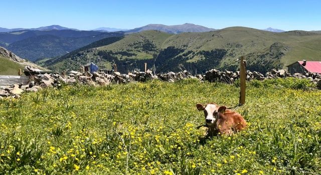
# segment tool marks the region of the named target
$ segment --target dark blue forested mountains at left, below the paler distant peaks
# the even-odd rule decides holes
[[[123,32],[71,29],[20,30],[0,32],[0,46],[34,61],[40,58],[61,56],[94,41],[123,34]]]

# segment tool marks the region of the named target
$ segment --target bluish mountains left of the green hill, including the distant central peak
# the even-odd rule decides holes
[[[38,28],[2,28],[0,46],[6,47],[17,55],[31,61],[47,57],[61,56],[72,50],[83,47],[94,41],[121,36],[125,33],[140,32],[149,29],[169,33],[204,32],[214,30],[201,25],[185,23],[182,25],[149,24],[131,30],[121,28],[100,27],[90,31],[72,29],[60,25]],[[117,30],[126,30],[115,32]]]

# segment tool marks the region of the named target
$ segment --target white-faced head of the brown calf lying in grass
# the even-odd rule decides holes
[[[208,126],[211,126],[217,121],[218,105],[215,103],[209,103],[205,106],[202,104],[196,104],[198,110],[204,110],[205,122]]]

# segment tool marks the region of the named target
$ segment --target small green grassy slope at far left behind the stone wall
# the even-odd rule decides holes
[[[24,69],[24,65],[9,60],[0,55],[0,75],[18,75],[18,69]]]

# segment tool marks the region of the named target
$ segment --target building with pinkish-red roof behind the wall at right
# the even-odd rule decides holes
[[[321,73],[321,61],[296,61],[287,65],[287,70],[291,74],[305,72]]]

